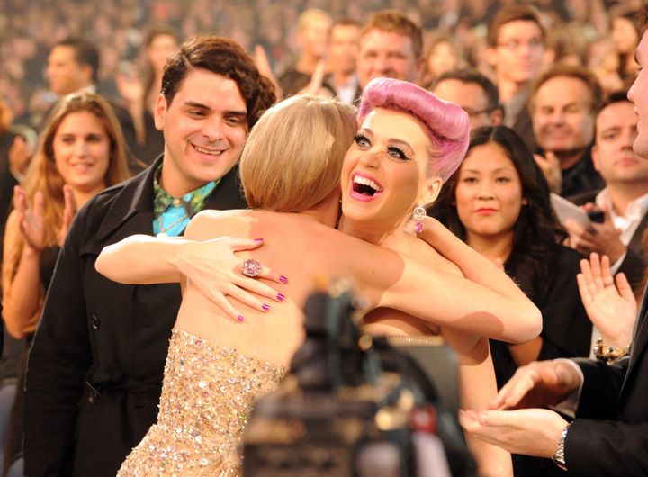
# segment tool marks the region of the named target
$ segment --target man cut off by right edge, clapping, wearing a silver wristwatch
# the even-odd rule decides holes
[[[642,40],[635,57],[641,69],[628,93],[639,116],[633,148],[648,160],[648,4],[639,15]],[[615,293],[608,279],[590,282],[590,293]],[[617,312],[632,308],[632,297],[617,297]],[[627,307],[621,306],[626,302]],[[554,360],[518,370],[492,408],[466,413],[463,424],[474,436],[511,452],[552,457],[568,475],[621,477],[648,474],[648,296],[639,311],[629,356],[624,349],[603,350],[604,360]],[[614,359],[617,356],[617,359]],[[553,410],[572,399],[576,419],[568,423]],[[524,409],[520,409],[524,408]],[[514,409],[514,410],[511,410]]]

